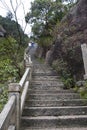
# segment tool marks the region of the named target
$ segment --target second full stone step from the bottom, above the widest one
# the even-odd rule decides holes
[[[87,106],[25,107],[23,116],[87,115]]]

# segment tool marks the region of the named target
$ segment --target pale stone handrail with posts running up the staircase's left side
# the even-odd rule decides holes
[[[20,129],[20,117],[32,75],[32,61],[30,56],[26,55],[24,62],[26,70],[20,82],[9,84],[9,99],[0,114],[0,130]]]

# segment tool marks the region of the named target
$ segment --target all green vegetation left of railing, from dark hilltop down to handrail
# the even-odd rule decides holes
[[[23,74],[24,50],[29,38],[24,34],[20,25],[9,17],[3,18],[0,16],[0,25],[6,30],[5,36],[0,37],[1,111],[8,99],[7,86],[9,82],[18,82]]]

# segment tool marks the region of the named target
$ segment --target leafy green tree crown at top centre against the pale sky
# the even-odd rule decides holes
[[[61,1],[35,0],[32,2],[30,12],[26,15],[26,22],[32,24],[32,37],[42,47],[52,44],[53,29],[66,11],[67,8]]]

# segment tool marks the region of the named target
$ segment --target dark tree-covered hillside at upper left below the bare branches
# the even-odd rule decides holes
[[[6,30],[7,35],[13,37],[18,44],[25,44],[26,36],[21,28],[21,26],[17,23],[17,21],[11,20],[12,14],[8,12],[7,17],[0,16],[0,25]]]

